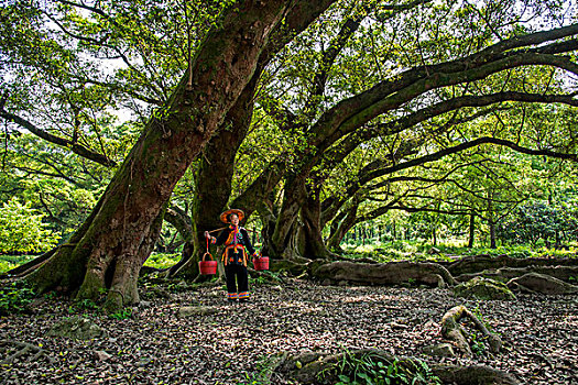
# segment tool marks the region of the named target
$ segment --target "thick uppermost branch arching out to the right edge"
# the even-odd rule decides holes
[[[541,51],[534,52],[520,50],[505,53],[506,50],[541,44],[577,33],[578,24],[572,24],[503,41],[460,59],[408,69],[327,110],[309,129],[313,134],[310,145],[326,148],[371,119],[435,88],[479,80],[509,68],[526,65],[552,65],[572,73],[578,72],[568,58],[546,54],[553,46],[541,47]],[[565,45],[565,50],[576,48],[577,41],[569,41]]]

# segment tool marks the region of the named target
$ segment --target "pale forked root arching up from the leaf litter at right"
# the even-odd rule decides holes
[[[473,322],[476,329],[482,333],[482,338],[487,339],[488,344],[490,345],[490,351],[492,353],[500,352],[502,340],[492,334],[478,317],[462,305],[449,309],[448,312],[444,315],[441,318],[441,336],[452,341],[464,353],[471,355],[472,352],[468,342],[468,336],[459,323],[459,320],[465,317],[469,318]]]

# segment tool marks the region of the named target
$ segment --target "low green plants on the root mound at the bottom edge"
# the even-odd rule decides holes
[[[357,358],[345,350],[339,362],[334,367],[319,374],[337,376],[336,385],[437,385],[439,377],[434,375],[429,366],[421,360],[389,361],[374,353],[363,353]]]

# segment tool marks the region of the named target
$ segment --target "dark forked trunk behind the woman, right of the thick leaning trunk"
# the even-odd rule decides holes
[[[334,1],[295,2],[283,25],[272,33],[272,38],[259,58],[251,81],[227,114],[226,130],[211,139],[204,151],[204,156],[199,160],[192,210],[195,237],[193,242],[184,249],[182,261],[171,270],[171,275],[179,271],[189,276],[197,275],[197,261],[205,241],[203,233],[221,226],[218,216],[230,199],[235,158],[251,125],[254,95],[262,70],[271,58],[293,40],[293,36],[304,31]],[[230,207],[242,209],[246,218],[249,218],[258,207],[262,206],[265,196],[279,184],[283,169],[284,163],[272,162],[251,186],[246,186],[246,191],[235,199]]]

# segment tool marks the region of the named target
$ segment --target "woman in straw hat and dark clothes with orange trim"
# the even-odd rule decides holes
[[[205,237],[210,239],[212,244],[225,244],[222,264],[227,277],[227,299],[229,301],[239,299],[239,301],[244,302],[249,300],[247,262],[249,256],[257,256],[247,230],[239,226],[239,221],[243,218],[244,213],[241,210],[227,210],[220,215],[220,219],[229,226],[217,238],[205,231]]]

